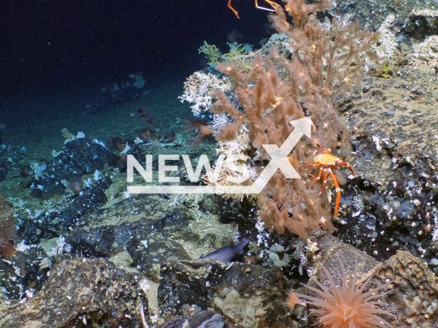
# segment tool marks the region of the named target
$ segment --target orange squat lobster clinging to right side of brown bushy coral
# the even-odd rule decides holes
[[[317,154],[318,152],[322,152],[322,154]],[[339,188],[339,184],[337,183],[335,174],[333,174],[333,169],[339,169],[339,165],[348,167],[351,171],[351,173],[356,176],[355,172],[353,171],[350,164],[348,164],[346,161],[343,161],[342,159],[339,159],[339,157],[333,156],[331,154],[328,154],[331,152],[331,149],[320,149],[315,150],[313,152],[313,156],[315,156],[315,164],[306,163],[301,161],[301,163],[305,163],[310,166],[314,167],[320,167],[320,174],[318,174],[318,178],[311,179],[309,181],[318,181],[321,178],[322,172],[324,172],[324,182],[322,183],[322,188],[320,191],[320,194],[324,190],[324,187],[326,187],[327,184],[327,172],[329,172],[331,178],[333,179],[333,183],[336,187],[336,207],[335,207],[335,214],[333,214],[333,217],[337,217],[337,210],[339,209],[339,198],[341,197],[341,189]]]

